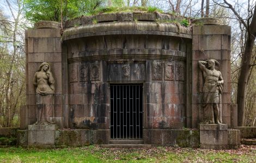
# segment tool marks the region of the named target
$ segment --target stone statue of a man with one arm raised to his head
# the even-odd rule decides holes
[[[221,72],[215,70],[215,64],[220,63],[215,59],[198,61],[200,69],[203,71],[203,109],[205,123],[222,124],[221,94],[224,83]],[[220,107],[218,104],[220,103]]]

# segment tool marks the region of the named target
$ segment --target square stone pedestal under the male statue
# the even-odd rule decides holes
[[[227,124],[199,124],[200,148],[229,149]]]

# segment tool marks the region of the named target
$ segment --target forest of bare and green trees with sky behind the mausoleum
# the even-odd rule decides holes
[[[100,12],[168,12],[190,26],[220,17],[231,26],[231,103],[239,126],[256,126],[256,0],[0,0],[0,127],[19,127],[26,105],[25,30],[42,20],[64,22]]]

